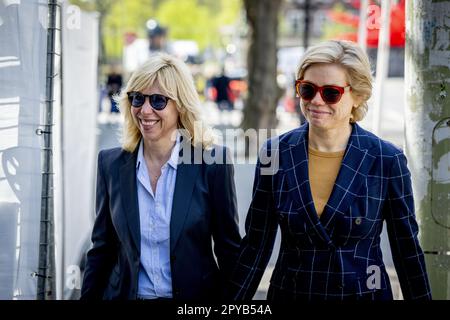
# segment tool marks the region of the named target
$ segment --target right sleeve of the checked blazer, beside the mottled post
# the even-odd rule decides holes
[[[403,153],[394,156],[383,207],[395,269],[405,300],[431,299],[425,259],[418,240],[411,174]]]

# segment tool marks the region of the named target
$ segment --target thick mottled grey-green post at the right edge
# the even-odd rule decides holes
[[[405,141],[433,299],[450,299],[450,0],[406,1]]]

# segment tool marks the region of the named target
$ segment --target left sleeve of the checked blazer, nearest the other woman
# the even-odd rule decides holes
[[[264,146],[261,154],[270,150]],[[231,300],[251,300],[272,255],[278,228],[273,201],[273,174],[258,158],[253,182],[253,196],[245,220],[246,235],[240,246],[226,297]],[[268,154],[269,158],[271,157]],[[270,166],[270,165],[269,165]],[[269,170],[270,171],[270,170]]]

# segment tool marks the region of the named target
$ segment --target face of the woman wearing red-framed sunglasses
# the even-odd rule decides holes
[[[314,64],[306,69],[303,80],[316,86],[345,87],[348,85],[345,69],[337,64]],[[311,128],[322,130],[348,128],[354,105],[356,105],[356,101],[348,89],[335,104],[324,102],[319,92],[311,101],[301,100],[302,112]]]

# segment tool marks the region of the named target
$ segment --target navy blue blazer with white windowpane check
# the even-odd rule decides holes
[[[262,174],[260,154],[227,298],[252,299],[280,226],[269,300],[390,300],[380,247],[385,221],[403,297],[431,299],[403,152],[353,124],[319,218],[308,177],[308,128],[305,124],[266,143],[262,152],[279,162],[273,174]]]

